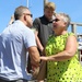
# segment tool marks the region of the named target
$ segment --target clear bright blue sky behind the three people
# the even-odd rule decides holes
[[[11,15],[19,5],[26,5],[27,0],[0,0],[0,33],[7,27]],[[65,12],[71,16],[71,22],[82,23],[82,0],[48,0],[55,2],[56,12]],[[44,14],[44,0],[30,0],[28,8],[33,20]],[[70,27],[69,30],[70,31]],[[82,33],[82,26],[77,27]]]

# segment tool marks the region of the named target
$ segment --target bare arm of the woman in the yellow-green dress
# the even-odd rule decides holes
[[[77,48],[78,44],[75,36],[69,36],[63,51],[58,52],[57,55],[51,55],[49,57],[40,57],[40,59],[45,61],[63,61],[72,58],[77,51]]]

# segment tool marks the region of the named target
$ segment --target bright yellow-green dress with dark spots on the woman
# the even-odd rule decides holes
[[[46,56],[58,54],[65,49],[68,36],[67,33],[60,36],[50,36],[46,45]],[[79,62],[78,51],[74,57],[65,61],[47,62],[47,82],[82,82],[82,67]]]

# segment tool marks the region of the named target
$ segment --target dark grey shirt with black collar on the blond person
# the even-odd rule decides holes
[[[43,46],[46,45],[49,35],[52,34],[52,21],[48,21],[45,15],[35,19],[33,27],[38,31],[38,38]]]

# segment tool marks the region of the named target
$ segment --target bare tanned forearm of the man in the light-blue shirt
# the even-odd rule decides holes
[[[39,61],[40,61],[39,54],[35,46],[30,47],[28,52],[30,52],[28,55],[30,55],[31,65],[32,65],[32,70],[30,70],[30,72],[32,72],[33,78],[36,78],[39,71]]]

